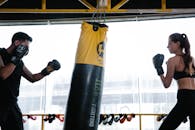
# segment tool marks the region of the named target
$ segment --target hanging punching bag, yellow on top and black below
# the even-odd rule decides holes
[[[63,130],[97,130],[108,26],[83,22]]]

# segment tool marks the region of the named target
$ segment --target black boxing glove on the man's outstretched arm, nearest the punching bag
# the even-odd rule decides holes
[[[54,70],[59,70],[61,68],[60,63],[57,60],[52,60],[47,64],[47,67],[44,68],[41,71],[41,74],[46,76],[49,75],[51,72],[53,72]]]

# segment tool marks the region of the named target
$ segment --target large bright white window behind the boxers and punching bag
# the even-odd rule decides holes
[[[152,57],[163,53],[166,62],[172,56],[167,44],[168,36],[174,32],[187,34],[192,55],[195,56],[192,44],[195,42],[194,22],[194,18],[183,18],[107,23],[101,113],[168,113],[176,103],[176,83],[173,81],[169,89],[163,88]],[[0,26],[1,47],[8,47],[13,33],[17,31],[26,32],[33,38],[29,55],[23,59],[32,73],[40,72],[53,59],[60,61],[62,66],[59,71],[34,84],[22,79],[19,96],[22,112],[65,113],[81,25]],[[150,125],[143,124],[145,130],[157,129],[160,125],[153,117],[144,119],[152,121]],[[99,129],[127,130],[131,127],[137,130],[138,121],[138,118],[132,121],[136,125],[100,125]],[[57,126],[47,124],[46,129],[61,130],[63,123],[56,123]],[[188,125],[178,129],[184,127]],[[25,124],[25,130],[39,128],[40,125],[33,121]]]

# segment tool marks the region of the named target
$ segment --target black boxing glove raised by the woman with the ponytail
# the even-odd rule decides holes
[[[164,70],[162,68],[163,61],[164,61],[163,54],[156,54],[153,57],[153,64],[154,64],[154,67],[155,67],[158,75],[164,74]]]

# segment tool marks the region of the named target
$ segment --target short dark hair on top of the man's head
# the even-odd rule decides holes
[[[12,43],[15,41],[15,40],[22,40],[22,41],[25,41],[25,40],[28,40],[30,42],[32,42],[32,38],[24,33],[24,32],[17,32],[13,35],[12,37]]]

